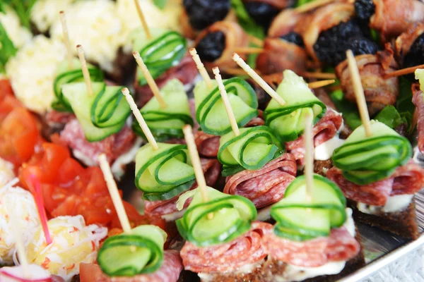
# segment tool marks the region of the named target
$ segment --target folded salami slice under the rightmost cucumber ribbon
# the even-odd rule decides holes
[[[409,161],[399,166],[389,177],[368,185],[358,185],[343,177],[341,169],[333,167],[327,171],[327,177],[341,188],[350,200],[384,206],[387,198],[394,195],[415,194],[424,185],[424,171],[418,164]]]

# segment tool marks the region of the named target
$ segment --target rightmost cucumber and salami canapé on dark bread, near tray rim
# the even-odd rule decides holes
[[[363,125],[334,151],[327,177],[348,198],[356,219],[405,238],[417,238],[413,196],[424,185],[424,170],[411,161],[409,141],[379,121],[372,135]]]

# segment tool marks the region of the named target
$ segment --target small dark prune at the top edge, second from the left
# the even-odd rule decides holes
[[[278,15],[280,10],[268,3],[249,1],[245,3],[247,13],[253,18],[255,23],[268,30],[272,20]]]

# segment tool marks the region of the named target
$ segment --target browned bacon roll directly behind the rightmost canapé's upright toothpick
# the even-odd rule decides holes
[[[399,96],[399,80],[397,77],[384,78],[384,73],[398,69],[390,47],[387,45],[384,51],[377,51],[375,55],[355,56],[355,61],[358,65],[370,116],[377,114],[384,106],[396,103]],[[341,82],[344,98],[355,103],[355,93],[351,87],[352,78],[347,60],[338,64],[336,75]]]

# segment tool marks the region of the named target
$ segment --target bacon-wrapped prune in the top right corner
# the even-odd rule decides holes
[[[355,13],[380,33],[383,42],[389,42],[424,20],[424,4],[420,0],[356,0]]]

